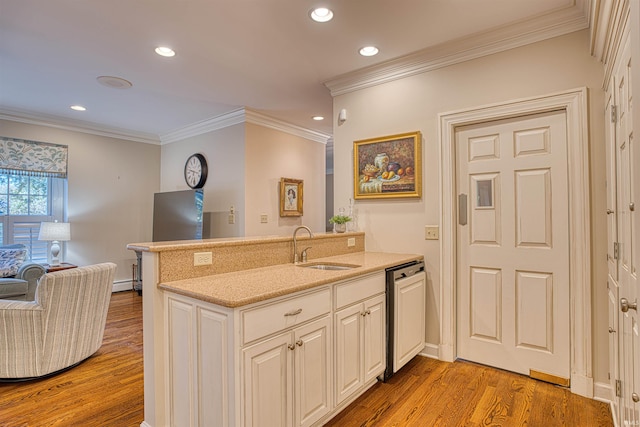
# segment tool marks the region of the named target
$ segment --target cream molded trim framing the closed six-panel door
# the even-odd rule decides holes
[[[571,391],[593,397],[591,358],[591,231],[587,89],[441,113],[439,118],[441,186],[440,360],[456,357],[455,129],[458,126],[526,114],[565,110],[569,174],[569,289]]]

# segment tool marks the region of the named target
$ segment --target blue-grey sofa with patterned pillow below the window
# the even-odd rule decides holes
[[[45,268],[27,259],[22,244],[0,246],[0,299],[33,301]]]

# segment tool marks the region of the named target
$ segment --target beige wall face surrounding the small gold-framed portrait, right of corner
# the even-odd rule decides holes
[[[246,235],[287,235],[298,225],[324,232],[325,144],[247,124]],[[303,180],[303,215],[280,217],[280,178]],[[267,214],[268,222],[260,222]]]

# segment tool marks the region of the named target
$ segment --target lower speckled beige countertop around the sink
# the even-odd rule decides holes
[[[294,264],[280,264],[232,273],[160,283],[160,289],[224,307],[241,307],[259,301],[310,289],[339,280],[381,271],[388,267],[422,260],[418,254],[357,252],[309,260],[352,264],[349,270],[316,270]]]

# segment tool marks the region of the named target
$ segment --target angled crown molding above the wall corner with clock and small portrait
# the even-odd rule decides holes
[[[292,125],[249,108],[239,108],[161,135],[160,141],[162,144],[169,144],[242,123],[252,123],[323,144],[326,144],[327,140],[331,138],[331,135]]]

